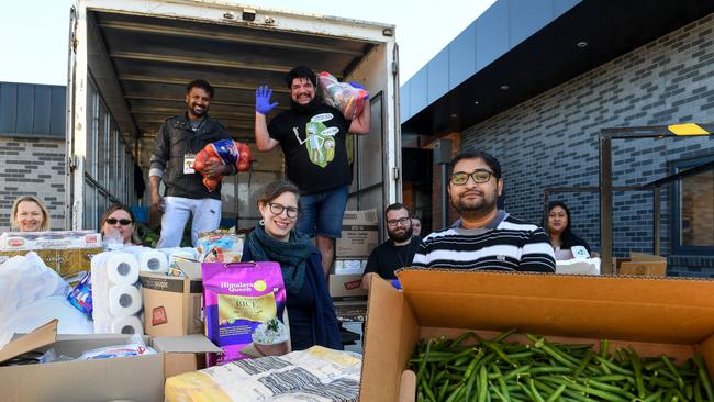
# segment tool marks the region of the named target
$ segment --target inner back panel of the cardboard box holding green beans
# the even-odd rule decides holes
[[[714,333],[714,281],[438,269],[397,276],[421,326],[668,344]]]

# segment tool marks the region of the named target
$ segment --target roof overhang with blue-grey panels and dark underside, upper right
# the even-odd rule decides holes
[[[713,11],[702,0],[499,0],[402,86],[402,135],[462,131]]]

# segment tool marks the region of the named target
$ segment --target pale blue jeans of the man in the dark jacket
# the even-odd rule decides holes
[[[164,197],[161,238],[157,248],[178,247],[183,237],[183,227],[193,215],[191,243],[196,247],[199,234],[219,228],[221,224],[221,200],[204,198],[193,200],[182,197]]]

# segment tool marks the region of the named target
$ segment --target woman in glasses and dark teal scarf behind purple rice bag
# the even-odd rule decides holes
[[[292,350],[314,345],[343,349],[322,256],[308,235],[294,230],[299,197],[298,188],[291,182],[266,186],[258,198],[263,220],[246,238],[243,260],[280,264]]]

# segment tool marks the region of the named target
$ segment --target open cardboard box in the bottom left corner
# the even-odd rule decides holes
[[[56,336],[54,321],[54,336]],[[27,350],[56,353],[77,357],[83,351],[102,346],[120,345],[127,335],[59,335],[42,339],[25,335],[2,350],[7,358]],[[3,401],[164,401],[164,380],[200,366],[197,351],[220,350],[202,335],[182,338],[147,338],[157,354],[97,360],[70,360],[46,365],[0,367],[0,391]],[[180,371],[185,370],[185,371]]]

